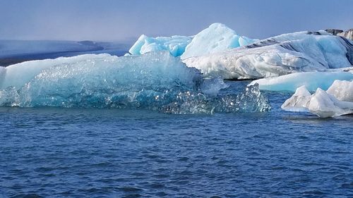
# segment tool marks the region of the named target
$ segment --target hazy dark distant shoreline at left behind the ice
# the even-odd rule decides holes
[[[78,56],[81,54],[111,54],[123,56],[131,44],[116,42],[66,42],[0,40],[0,66],[24,61]]]

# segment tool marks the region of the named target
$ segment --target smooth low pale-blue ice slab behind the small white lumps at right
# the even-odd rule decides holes
[[[335,80],[353,80],[353,73],[344,71],[292,73],[253,80],[250,85],[258,83],[260,89],[289,92],[294,92],[304,85],[309,91],[315,91],[318,88],[327,90]]]

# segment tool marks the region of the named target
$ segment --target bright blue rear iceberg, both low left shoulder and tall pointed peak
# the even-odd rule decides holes
[[[133,44],[131,55],[145,54],[151,51],[169,51],[172,56],[189,58],[213,54],[227,49],[241,47],[256,40],[239,36],[237,32],[221,23],[213,23],[193,37],[148,37],[141,35]]]

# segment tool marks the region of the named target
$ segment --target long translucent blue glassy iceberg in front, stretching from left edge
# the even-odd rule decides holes
[[[258,86],[218,95],[220,79],[203,80],[168,52],[117,57],[83,55],[1,68],[0,106],[151,109],[166,113],[268,111]]]

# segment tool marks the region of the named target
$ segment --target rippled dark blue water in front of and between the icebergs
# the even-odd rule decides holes
[[[353,116],[265,94],[267,113],[1,107],[0,197],[353,197]]]

